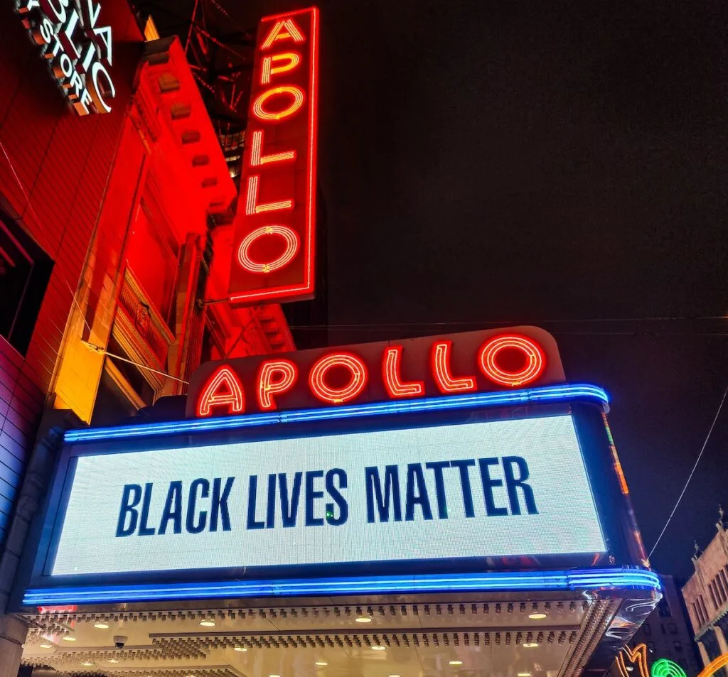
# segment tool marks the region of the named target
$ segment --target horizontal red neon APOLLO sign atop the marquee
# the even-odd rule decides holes
[[[515,327],[203,364],[187,415],[206,417],[563,382],[553,337]]]

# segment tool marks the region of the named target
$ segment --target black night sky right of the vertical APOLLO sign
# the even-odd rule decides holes
[[[250,27],[304,6],[221,1]],[[728,310],[725,4],[319,7],[332,342],[553,332],[613,398],[649,550],[728,385],[727,321],[694,319]],[[687,577],[715,533],[727,449],[728,406],[660,572]]]

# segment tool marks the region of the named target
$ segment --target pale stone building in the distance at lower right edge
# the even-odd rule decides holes
[[[695,545],[695,573],[682,594],[703,664],[728,653],[728,520],[719,509],[716,535],[705,550]]]

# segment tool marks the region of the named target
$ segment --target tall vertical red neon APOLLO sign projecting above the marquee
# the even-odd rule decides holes
[[[301,300],[314,292],[318,10],[258,27],[230,300]]]

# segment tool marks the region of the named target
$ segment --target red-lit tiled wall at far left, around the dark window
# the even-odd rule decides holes
[[[0,545],[103,201],[142,40],[124,0],[102,2],[100,20],[114,34],[116,98],[111,113],[79,117],[14,6],[0,3],[0,207],[55,266],[27,355],[0,339]]]

